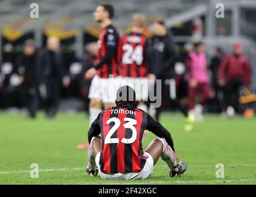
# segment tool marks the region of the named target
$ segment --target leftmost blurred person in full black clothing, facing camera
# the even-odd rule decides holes
[[[25,41],[23,54],[17,60],[18,73],[25,90],[25,104],[29,118],[36,118],[40,70],[38,51],[32,39]]]

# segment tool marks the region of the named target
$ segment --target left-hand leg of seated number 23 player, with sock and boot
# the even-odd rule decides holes
[[[95,157],[100,153],[102,144],[100,137],[93,137],[90,146],[87,150],[87,167],[86,171],[89,175],[95,177],[98,175],[98,169],[96,167]]]

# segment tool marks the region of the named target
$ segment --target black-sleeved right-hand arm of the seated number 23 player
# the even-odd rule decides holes
[[[150,115],[147,117],[147,127],[146,129],[148,131],[151,131],[153,134],[155,134],[158,137],[163,137],[168,145],[174,150],[174,143],[173,138],[171,137],[171,134],[160,124],[158,121],[155,121]]]

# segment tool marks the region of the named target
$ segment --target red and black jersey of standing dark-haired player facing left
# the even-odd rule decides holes
[[[106,26],[98,39],[98,55],[95,68],[100,78],[119,75],[121,62],[121,39],[113,25]]]

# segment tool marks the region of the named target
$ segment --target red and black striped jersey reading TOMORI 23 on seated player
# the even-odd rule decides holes
[[[143,110],[120,105],[102,111],[92,123],[88,140],[101,134],[101,171],[109,173],[140,172],[145,165],[143,132],[149,130],[164,137],[173,148],[171,134]]]

